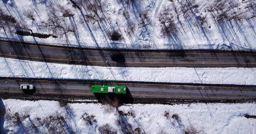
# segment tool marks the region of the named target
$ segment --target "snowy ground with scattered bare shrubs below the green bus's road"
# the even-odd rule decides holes
[[[101,104],[60,104],[58,101],[48,100],[1,100],[1,107],[4,105],[6,109],[1,134],[54,134],[54,131],[59,134],[61,130],[67,134],[184,134],[192,128],[200,131],[198,134],[256,133],[256,119],[244,117],[256,115],[255,102],[127,104],[120,106],[118,110]],[[16,114],[15,119],[16,112],[18,116]],[[172,118],[174,114],[179,119]],[[25,119],[17,121],[17,117]],[[21,122],[20,126],[17,122]],[[47,122],[49,126],[46,125]],[[109,133],[104,133],[107,130]]]

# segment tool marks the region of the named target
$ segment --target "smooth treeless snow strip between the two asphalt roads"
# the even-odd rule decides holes
[[[0,58],[0,76],[255,85],[256,68],[97,67]]]

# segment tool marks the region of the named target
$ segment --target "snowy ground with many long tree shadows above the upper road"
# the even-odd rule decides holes
[[[2,0],[0,37],[87,48],[256,50],[255,0],[75,1]],[[113,32],[121,38],[111,40]]]

